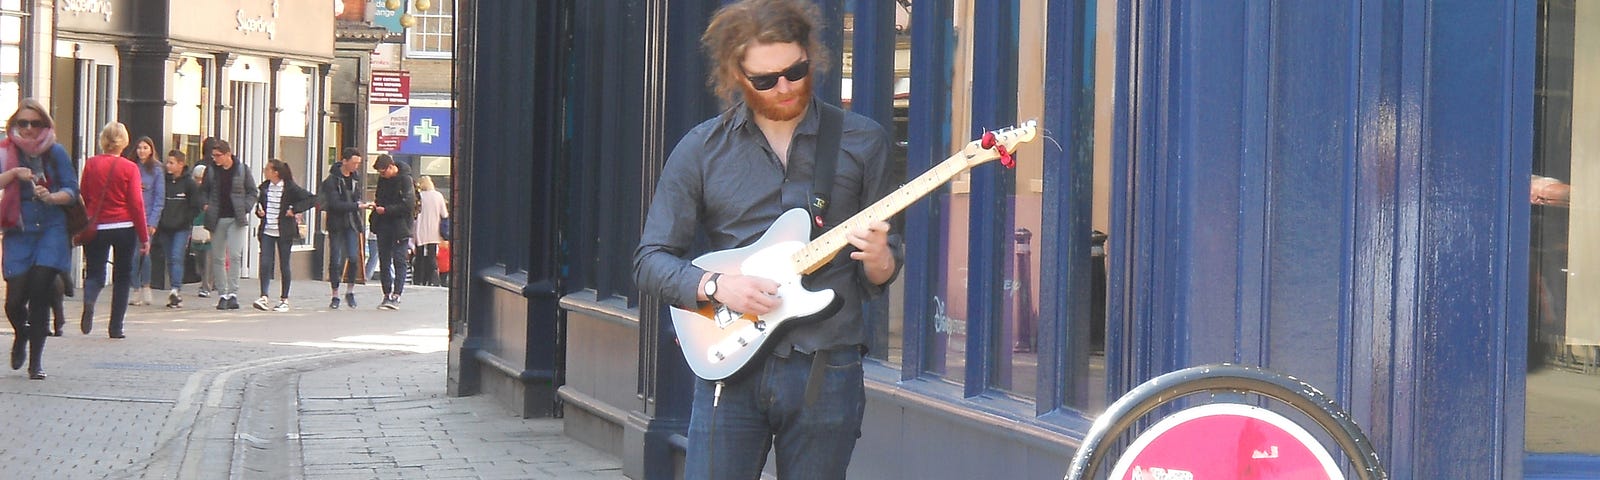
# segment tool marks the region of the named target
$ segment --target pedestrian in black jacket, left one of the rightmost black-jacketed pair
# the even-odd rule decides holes
[[[317,189],[318,208],[326,214],[328,229],[328,283],[333,285],[328,307],[339,309],[339,282],[344,282],[344,304],[355,307],[355,280],[362,274],[362,150],[346,147],[339,163],[328,170],[328,178]]]

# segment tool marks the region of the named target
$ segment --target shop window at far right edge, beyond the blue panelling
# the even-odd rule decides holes
[[[1539,2],[1526,389],[1536,453],[1600,454],[1600,243],[1584,240],[1600,238],[1595,50],[1600,3]]]

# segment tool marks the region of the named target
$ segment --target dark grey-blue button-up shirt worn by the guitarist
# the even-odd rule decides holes
[[[642,291],[670,304],[694,306],[704,274],[690,264],[694,256],[754,243],[779,214],[805,208],[811,197],[811,170],[821,123],[818,106],[822,102],[813,99],[811,109],[806,109],[795,128],[787,168],[773,154],[744,102],[702,122],[678,141],[661,171],[638,250],[634,253],[634,282]],[[890,174],[888,146],[883,126],[859,114],[845,112],[829,198],[832,205],[826,216],[829,227],[850,219],[901,182]],[[701,234],[709,245],[694,243]],[[890,250],[899,266],[902,253],[898,232],[890,235]],[[843,307],[834,317],[795,325],[774,341],[774,354],[866,342],[861,302],[883,288],[867,282],[861,262],[850,259],[850,251],[854,250],[846,246],[829,266],[805,280],[808,290],[832,288]]]

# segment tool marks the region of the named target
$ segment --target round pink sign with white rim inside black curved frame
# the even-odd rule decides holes
[[[1120,480],[1342,480],[1306,429],[1270,410],[1210,403],[1182,410],[1134,438],[1112,469]]]

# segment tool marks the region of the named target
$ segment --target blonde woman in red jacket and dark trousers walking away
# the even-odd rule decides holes
[[[150,251],[150,230],[144,224],[144,194],[139,168],[118,154],[128,147],[128,128],[112,122],[101,130],[101,154],[83,165],[83,210],[90,213],[94,240],[83,245],[88,262],[83,280],[83,333],[94,328],[94,299],[106,288],[106,258],[112,254],[110,272],[110,338],[123,338],[122,320],[128,315],[128,290],[133,277],[133,253]]]

